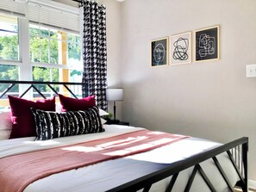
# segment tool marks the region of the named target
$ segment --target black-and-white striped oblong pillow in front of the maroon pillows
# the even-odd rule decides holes
[[[86,133],[100,133],[105,129],[97,107],[84,111],[56,113],[31,108],[36,127],[36,140],[47,140]]]

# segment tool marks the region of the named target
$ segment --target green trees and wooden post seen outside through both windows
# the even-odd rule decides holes
[[[21,30],[27,31],[26,27],[29,29],[29,39],[19,39],[22,33],[24,34],[24,31],[19,30],[20,23],[23,23],[21,18],[0,15],[0,80],[19,80],[26,76],[26,80],[42,82],[82,81],[80,36],[78,34],[42,27],[34,23],[28,25],[23,23]],[[22,43],[29,45],[29,58],[28,53],[22,52],[20,47]],[[24,57],[30,59],[30,62],[24,63]],[[24,70],[20,71],[23,66],[31,67],[31,79],[27,79],[28,73],[22,74]],[[0,84],[0,93],[8,86],[8,84]],[[60,88],[57,87],[58,89]],[[50,92],[46,86],[41,86],[40,90]],[[13,87],[11,92],[12,95],[18,96],[19,86]],[[81,95],[81,90],[75,92],[76,95]],[[34,96],[38,95],[34,93]]]

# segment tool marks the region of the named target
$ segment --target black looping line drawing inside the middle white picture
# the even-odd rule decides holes
[[[186,60],[189,58],[188,55],[188,50],[189,50],[189,40],[186,38],[178,38],[178,40],[176,40],[173,43],[174,46],[174,50],[172,53],[172,58],[173,59],[177,59],[177,60]]]

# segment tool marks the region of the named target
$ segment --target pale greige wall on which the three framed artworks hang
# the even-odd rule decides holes
[[[122,75],[115,77],[121,77],[125,91],[122,119],[134,126],[220,142],[248,136],[249,178],[256,181],[256,78],[246,77],[246,65],[256,63],[256,1],[121,4]],[[217,24],[220,60],[150,67],[151,40],[187,31],[194,34]],[[108,65],[109,75],[116,74],[116,64]]]

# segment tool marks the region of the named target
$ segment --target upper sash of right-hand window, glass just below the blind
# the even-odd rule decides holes
[[[46,64],[81,65],[79,34],[29,25],[30,60]]]

